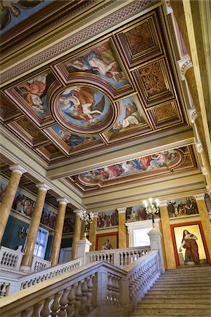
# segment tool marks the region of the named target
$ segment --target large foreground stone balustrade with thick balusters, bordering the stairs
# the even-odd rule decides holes
[[[159,275],[158,251],[127,268],[89,263],[0,299],[0,316],[129,316]]]

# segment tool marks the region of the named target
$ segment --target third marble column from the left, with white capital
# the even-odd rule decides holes
[[[58,215],[56,218],[56,227],[53,233],[53,244],[51,249],[51,266],[56,266],[58,264],[58,258],[60,253],[60,243],[63,236],[63,226],[65,221],[65,211],[66,206],[70,202],[65,198],[58,198],[56,199],[58,201]]]

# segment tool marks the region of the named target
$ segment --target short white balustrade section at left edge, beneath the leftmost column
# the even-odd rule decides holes
[[[19,270],[23,253],[17,250],[1,247],[0,249],[0,267]]]

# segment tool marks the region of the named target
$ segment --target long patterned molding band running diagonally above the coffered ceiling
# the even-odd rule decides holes
[[[3,73],[1,75],[0,83],[4,84],[8,82],[8,80],[13,79],[21,73],[26,72],[27,70],[39,66],[42,63],[46,63],[50,59],[52,60],[52,58],[55,59],[55,57],[59,54],[62,54],[63,52],[72,49],[76,45],[81,44],[84,41],[87,41],[87,39],[91,39],[92,37],[100,34],[108,28],[117,25],[117,23],[121,23],[122,21],[132,17],[136,13],[143,11],[143,9],[147,8],[148,6],[151,6],[154,3],[154,0],[139,0],[135,3],[130,4],[129,6],[123,8],[117,13],[109,15],[107,18],[104,18],[103,20],[94,23],[94,25],[91,25],[87,29],[81,30],[77,34],[70,36],[68,39],[65,39],[64,41],[51,46],[49,49],[46,49],[46,51],[42,51],[37,56],[33,56],[27,61],[20,63],[17,67],[6,71],[6,73]]]

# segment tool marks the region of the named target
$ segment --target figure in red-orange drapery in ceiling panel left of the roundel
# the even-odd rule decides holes
[[[40,113],[46,113],[41,96],[46,89],[46,77],[48,73],[38,75],[27,82],[24,82],[19,87],[25,88],[27,91],[26,99],[32,108],[35,108]]]

